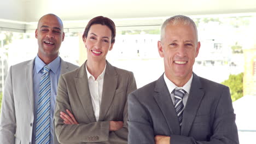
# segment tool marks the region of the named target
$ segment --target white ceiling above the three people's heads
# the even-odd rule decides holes
[[[256,13],[255,0],[0,0],[0,28],[33,29],[45,14],[53,13],[64,22],[81,23],[103,15],[120,25],[130,20],[183,15]],[[139,18],[139,19],[137,19]],[[141,19],[143,18],[143,19]],[[157,20],[156,20],[157,21]],[[142,23],[143,23],[142,22]],[[154,20],[150,25],[154,25]],[[161,20],[158,23],[162,22]],[[150,23],[150,22],[149,22]],[[33,26],[29,26],[33,25]],[[78,24],[79,25],[79,24]],[[119,24],[118,24],[119,25]],[[118,26],[117,25],[117,26]],[[136,25],[132,23],[132,25]],[[72,26],[71,26],[72,27]],[[1,30],[1,29],[0,29]]]

